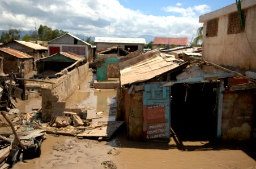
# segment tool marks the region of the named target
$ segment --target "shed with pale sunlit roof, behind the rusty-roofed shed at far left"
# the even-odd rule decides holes
[[[15,50],[33,56],[35,60],[40,59],[41,57],[45,57],[47,55],[47,47],[32,42],[14,40],[1,45],[0,47],[14,48]]]

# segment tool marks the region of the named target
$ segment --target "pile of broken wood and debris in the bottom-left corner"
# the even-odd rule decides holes
[[[13,114],[12,114],[13,113]],[[17,114],[16,114],[17,113]],[[21,112],[10,110],[1,112],[1,134],[0,134],[0,168],[11,168],[16,161],[40,157],[42,140],[46,138],[46,130],[33,128],[27,130]],[[23,119],[22,119],[23,116]],[[11,117],[11,119],[9,119]],[[9,126],[6,126],[8,123]],[[10,129],[12,132],[10,132]],[[23,131],[16,132],[22,128]],[[22,157],[20,155],[22,154]]]

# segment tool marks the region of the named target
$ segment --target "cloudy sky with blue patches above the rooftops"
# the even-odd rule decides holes
[[[199,16],[236,1],[197,0],[0,0],[0,29],[39,25],[87,36],[188,37]]]

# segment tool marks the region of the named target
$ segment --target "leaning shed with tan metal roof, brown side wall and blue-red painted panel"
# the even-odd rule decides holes
[[[170,88],[159,86],[169,81],[171,70],[182,66],[178,61],[153,50],[119,64],[121,88],[117,91],[116,118],[124,115],[130,139],[169,139]]]

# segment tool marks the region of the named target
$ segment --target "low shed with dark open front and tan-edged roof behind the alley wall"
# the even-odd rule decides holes
[[[52,56],[36,60],[37,74],[39,77],[56,77],[56,73],[68,68],[77,61],[83,61],[85,58],[71,52],[58,52]]]

